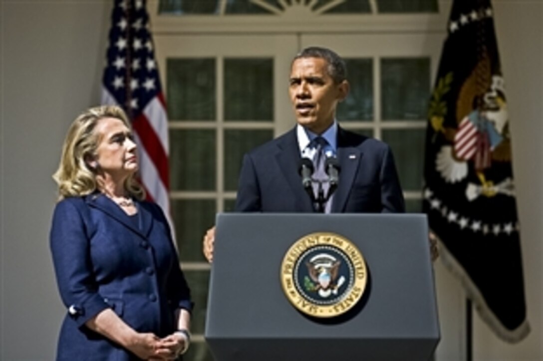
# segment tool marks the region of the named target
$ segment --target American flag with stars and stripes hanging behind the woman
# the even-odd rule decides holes
[[[168,119],[144,0],[116,0],[113,5],[102,104],[127,112],[147,197],[169,215]]]

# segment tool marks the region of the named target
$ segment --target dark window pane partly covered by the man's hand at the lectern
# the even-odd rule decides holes
[[[215,223],[214,199],[174,199],[171,203],[179,259],[204,262],[202,240],[205,231]]]

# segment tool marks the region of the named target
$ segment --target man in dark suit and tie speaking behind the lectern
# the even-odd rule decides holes
[[[302,158],[336,158],[337,190],[323,202],[325,212],[403,212],[400,183],[390,147],[339,127],[338,102],[349,93],[344,61],[333,51],[310,47],[292,62],[289,79],[297,125],[245,155],[239,175],[236,211],[313,212],[313,197],[300,178]],[[322,166],[321,166],[322,167]],[[315,163],[315,172],[319,165]],[[322,178],[325,188],[328,177]],[[315,182],[314,182],[315,183]],[[315,187],[317,188],[317,187]],[[316,189],[315,189],[316,190]],[[204,255],[213,257],[214,228],[204,236]]]

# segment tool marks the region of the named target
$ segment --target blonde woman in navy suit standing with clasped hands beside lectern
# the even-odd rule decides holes
[[[136,144],[117,106],[88,109],[66,136],[50,231],[66,317],[58,360],[173,360],[192,302],[160,207],[135,180]]]

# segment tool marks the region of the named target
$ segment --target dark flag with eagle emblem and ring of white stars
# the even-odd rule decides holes
[[[455,0],[428,107],[424,211],[498,337],[529,333],[506,89],[489,0]]]

